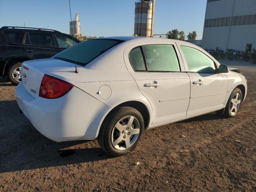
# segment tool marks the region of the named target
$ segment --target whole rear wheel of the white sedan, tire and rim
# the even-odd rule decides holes
[[[98,135],[100,147],[112,156],[128,154],[138,145],[144,130],[140,112],[120,107],[104,120]]]

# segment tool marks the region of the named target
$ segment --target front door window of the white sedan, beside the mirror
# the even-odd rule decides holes
[[[215,73],[213,60],[204,53],[186,46],[181,46],[181,49],[186,59],[189,72]]]

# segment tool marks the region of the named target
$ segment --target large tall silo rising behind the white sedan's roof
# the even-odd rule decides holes
[[[134,36],[154,35],[155,0],[135,2]]]

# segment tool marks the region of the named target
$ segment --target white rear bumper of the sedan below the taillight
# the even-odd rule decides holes
[[[110,108],[76,87],[57,99],[34,98],[22,83],[15,93],[20,109],[32,125],[56,142],[95,139],[98,125]]]

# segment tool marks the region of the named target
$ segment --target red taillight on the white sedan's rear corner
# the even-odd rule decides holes
[[[66,94],[72,87],[73,85],[68,82],[44,75],[40,86],[39,96],[48,99],[59,98]]]

